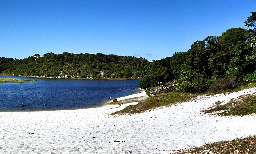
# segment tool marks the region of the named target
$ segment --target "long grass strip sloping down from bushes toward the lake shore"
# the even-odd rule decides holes
[[[111,113],[110,115],[128,115],[142,113],[161,106],[173,105],[179,102],[183,102],[195,96],[195,94],[182,92],[160,93],[157,94],[157,96],[147,98],[144,102],[139,102],[136,105],[127,106],[123,110]]]

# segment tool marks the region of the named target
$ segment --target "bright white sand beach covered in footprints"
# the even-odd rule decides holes
[[[104,105],[81,110],[0,112],[0,153],[166,154],[246,137],[256,134],[255,115],[219,117],[202,110],[255,90],[198,96],[189,102],[125,116],[109,113],[130,104],[119,108]]]

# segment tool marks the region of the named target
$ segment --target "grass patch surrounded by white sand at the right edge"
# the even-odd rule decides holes
[[[241,95],[228,103],[216,102],[215,105],[206,109],[205,114],[215,112],[219,116],[249,115],[256,114],[256,93]]]

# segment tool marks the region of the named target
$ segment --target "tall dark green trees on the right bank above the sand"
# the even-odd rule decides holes
[[[244,22],[254,29],[230,28],[221,36],[195,41],[187,52],[177,52],[146,65],[142,88],[174,81],[179,91],[233,89],[256,80],[256,12]]]

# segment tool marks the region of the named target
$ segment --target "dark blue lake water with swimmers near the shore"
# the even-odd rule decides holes
[[[17,76],[0,78],[37,80],[26,83],[0,83],[0,111],[71,110],[102,106],[109,102],[108,97],[114,99],[133,94],[133,87],[134,93],[137,92],[140,81]],[[21,106],[22,103],[24,107]]]

